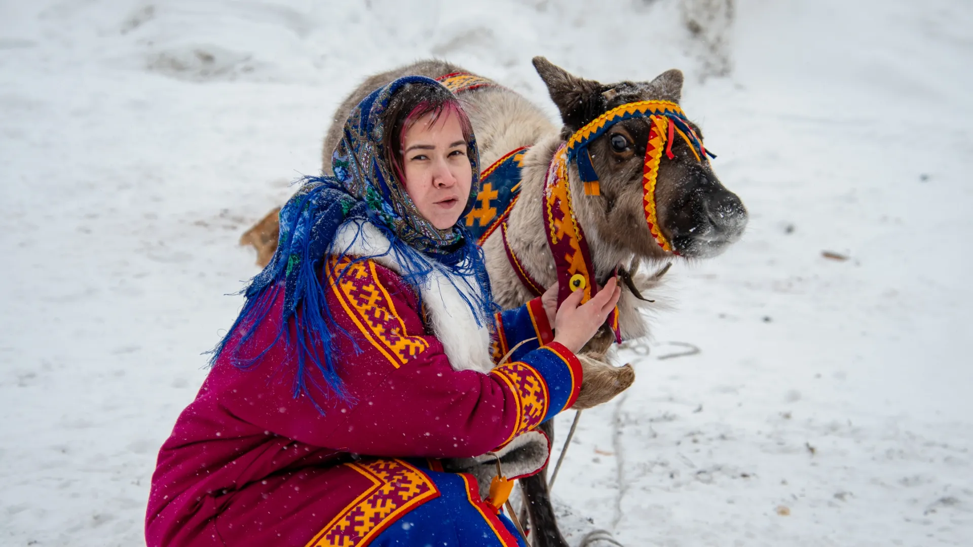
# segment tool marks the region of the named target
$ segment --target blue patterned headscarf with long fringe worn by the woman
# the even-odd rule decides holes
[[[444,231],[426,221],[385,162],[382,113],[392,94],[406,86],[442,85],[419,76],[400,78],[372,92],[351,112],[333,157],[335,176],[305,177],[302,187],[281,208],[277,250],[270,264],[243,289],[243,309],[226,337],[212,350],[211,363],[237,335],[239,342],[231,349],[230,360],[240,368],[259,365],[270,348],[284,338],[288,346],[297,349],[295,363],[281,364],[296,368],[295,398],[306,393],[321,412],[315,394],[346,398],[331,348],[340,333],[350,335],[335,323],[328,310],[321,276],[326,256],[341,258],[348,254],[348,246],[337,248],[336,244],[336,235],[345,223],[357,223],[360,227],[362,222],[368,222],[387,237],[388,250],[378,256],[393,255],[402,268],[402,277],[416,289],[425,285],[434,268],[479,287],[479,294],[474,292],[472,297],[464,291],[459,293],[474,310],[478,322],[481,317],[492,317],[494,305],[483,250],[460,223]],[[480,190],[476,140],[471,138],[468,145],[473,184],[460,218],[469,212]],[[355,256],[354,260],[372,258],[377,257]],[[241,347],[268,319],[281,288],[284,304],[276,337],[255,356],[241,357]],[[289,328],[290,324],[295,328]],[[320,372],[327,385],[314,380],[309,374],[310,366]]]

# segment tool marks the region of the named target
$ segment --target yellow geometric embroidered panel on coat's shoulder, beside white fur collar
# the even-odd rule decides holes
[[[429,347],[424,338],[406,332],[392,298],[378,282],[375,262],[331,258],[327,270],[328,284],[345,314],[392,366],[399,368]]]

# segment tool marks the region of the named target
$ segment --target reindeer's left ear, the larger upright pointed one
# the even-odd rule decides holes
[[[604,113],[608,101],[601,95],[607,88],[568,73],[542,56],[533,58],[537,74],[548,87],[551,100],[558,105],[564,125],[577,130]]]

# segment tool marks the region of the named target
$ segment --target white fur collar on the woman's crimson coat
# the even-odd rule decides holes
[[[336,248],[347,249],[345,252],[349,255],[382,255],[374,259],[378,264],[397,274],[403,273],[403,267],[394,253],[384,254],[391,247],[388,238],[369,222],[344,223],[335,236],[335,245]],[[419,287],[419,291],[433,334],[443,344],[450,365],[457,371],[489,372],[493,368],[493,360],[489,350],[489,330],[486,328],[488,318],[481,318],[481,324],[477,324],[474,311],[459,293],[462,290],[467,295],[476,294],[471,281],[451,274],[433,261],[429,261],[429,265],[433,267],[433,273],[425,285]],[[472,283],[477,284],[475,280]]]

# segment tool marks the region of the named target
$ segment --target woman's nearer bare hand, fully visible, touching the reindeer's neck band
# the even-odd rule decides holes
[[[618,280],[612,277],[591,300],[578,306],[584,294],[581,289],[572,292],[561,303],[554,320],[554,341],[567,347],[572,353],[581,351],[595,336],[608,314],[618,304],[622,288],[618,286]]]

